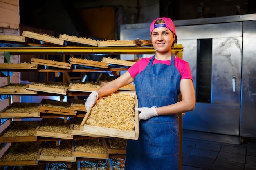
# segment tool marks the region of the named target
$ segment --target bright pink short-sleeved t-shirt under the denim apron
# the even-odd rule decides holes
[[[153,56],[152,56],[153,57]],[[149,63],[149,60],[152,58],[141,58],[139,61],[137,61],[135,64],[133,64],[129,69],[128,72],[130,73],[130,75],[132,77],[135,77],[138,73],[140,73],[141,71],[144,70],[144,68],[146,68],[146,66]],[[155,59],[153,61],[153,65],[156,63],[162,63],[162,64],[166,64],[166,65],[170,65],[170,60],[157,60]],[[181,75],[181,79],[192,79],[192,74],[191,74],[191,70],[189,67],[189,63],[182,60],[179,57],[175,58],[175,67],[178,69],[178,71],[180,71],[180,75]]]

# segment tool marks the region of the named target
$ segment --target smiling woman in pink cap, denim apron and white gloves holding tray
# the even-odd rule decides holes
[[[85,107],[134,81],[139,106],[135,110],[140,112],[139,139],[127,141],[125,168],[178,170],[178,114],[195,108],[192,75],[188,62],[172,53],[177,41],[173,21],[157,18],[150,32],[155,55],[140,59],[126,73],[92,92]],[[178,101],[180,93],[182,100]]]

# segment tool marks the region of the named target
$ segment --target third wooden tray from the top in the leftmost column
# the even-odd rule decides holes
[[[0,94],[34,95],[36,93],[37,93],[36,91],[27,90],[26,84],[21,84],[21,83],[13,83],[13,84],[8,84],[0,87]]]

